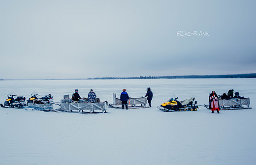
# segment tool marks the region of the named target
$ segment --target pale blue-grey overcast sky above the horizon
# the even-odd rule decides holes
[[[0,0],[0,79],[256,73],[255,6],[255,0]]]

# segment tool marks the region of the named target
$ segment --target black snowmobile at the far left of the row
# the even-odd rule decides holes
[[[26,106],[26,97],[24,96],[17,96],[15,94],[8,94],[7,95],[7,99],[4,102],[4,106],[2,104],[0,104],[1,107],[3,108],[18,108],[18,109],[22,109],[24,108],[24,106]],[[8,106],[8,107],[5,107]]]

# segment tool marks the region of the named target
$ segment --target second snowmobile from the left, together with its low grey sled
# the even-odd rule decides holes
[[[28,108],[34,109],[34,110],[53,110],[53,96],[51,94],[46,95],[42,98],[38,98],[39,94],[37,92],[32,92],[31,97],[28,100],[28,106],[25,107],[25,109],[28,110]]]

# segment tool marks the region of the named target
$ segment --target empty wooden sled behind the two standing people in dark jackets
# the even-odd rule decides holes
[[[130,98],[128,101],[128,109],[138,109],[138,108],[149,108],[146,106],[147,98],[146,97],[134,97]],[[117,94],[113,93],[113,104],[109,104],[109,107],[122,109],[122,101],[117,98]]]

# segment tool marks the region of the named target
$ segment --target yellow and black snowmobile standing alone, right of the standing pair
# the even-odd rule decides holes
[[[186,111],[186,110],[197,110],[197,101],[194,101],[194,97],[183,101],[178,101],[178,97],[175,99],[171,98],[167,102],[161,104],[161,108],[157,107],[162,111]]]

